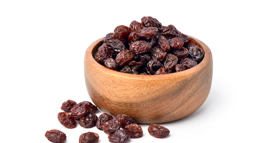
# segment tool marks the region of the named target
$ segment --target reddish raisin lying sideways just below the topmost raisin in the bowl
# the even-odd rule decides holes
[[[144,39],[151,39],[158,33],[157,27],[144,27],[138,32],[138,36]]]

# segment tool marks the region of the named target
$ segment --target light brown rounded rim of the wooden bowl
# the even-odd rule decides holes
[[[130,78],[130,79],[149,79],[149,80],[150,79],[169,79],[169,78],[186,76],[186,75],[191,74],[193,72],[201,71],[212,60],[211,50],[209,49],[209,47],[205,43],[203,43],[201,40],[198,40],[197,38],[194,38],[192,36],[189,36],[189,35],[187,35],[187,36],[189,38],[192,38],[192,39],[196,40],[199,43],[198,46],[201,49],[203,49],[203,51],[204,51],[204,58],[195,67],[193,67],[191,69],[184,70],[184,71],[174,72],[174,73],[169,73],[169,74],[160,74],[160,75],[140,75],[140,74],[123,73],[123,72],[119,72],[119,71],[114,71],[114,70],[108,69],[108,68],[104,67],[103,65],[99,64],[98,62],[96,62],[96,60],[94,59],[94,57],[92,55],[93,49],[96,46],[99,46],[99,44],[102,42],[102,39],[104,37],[94,41],[86,49],[85,56],[84,56],[84,64],[85,64],[85,62],[87,62],[88,64],[91,65],[91,67],[95,68],[96,71],[99,71],[99,72],[101,71],[101,72],[104,72],[106,74],[112,74],[114,76],[120,76],[120,77],[125,77],[125,78]]]

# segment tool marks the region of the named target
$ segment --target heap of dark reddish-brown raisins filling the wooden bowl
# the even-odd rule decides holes
[[[124,73],[155,75],[184,71],[203,60],[198,43],[173,25],[142,17],[108,33],[94,55],[101,65]]]

